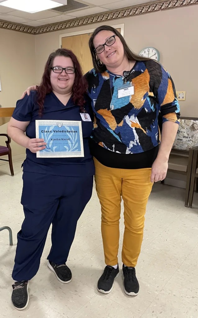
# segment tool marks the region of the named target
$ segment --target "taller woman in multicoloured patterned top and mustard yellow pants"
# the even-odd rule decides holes
[[[169,73],[158,62],[131,52],[116,29],[98,27],[89,40],[89,47],[94,68],[85,77],[95,115],[90,149],[102,207],[107,265],[97,288],[104,294],[110,293],[119,274],[122,198],[124,291],[135,296],[139,292],[135,266],[143,239],[146,204],[153,182],[166,177],[180,107]],[[159,111],[163,116],[161,137]]]

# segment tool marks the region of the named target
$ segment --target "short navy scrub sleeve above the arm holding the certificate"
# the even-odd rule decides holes
[[[18,121],[31,121],[33,107],[32,92],[30,92],[29,96],[26,94],[22,100],[17,101],[12,117]]]

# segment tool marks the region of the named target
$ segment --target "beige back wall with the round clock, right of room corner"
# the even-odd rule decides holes
[[[124,23],[124,38],[134,52],[146,46],[156,47],[160,62],[175,82],[176,90],[186,91],[186,101],[180,102],[183,116],[198,117],[197,72],[193,54],[198,52],[198,5],[158,11],[137,17],[106,22],[109,25]],[[59,35],[89,30],[104,23],[69,30],[36,35],[36,81],[39,83],[48,55],[59,47]]]

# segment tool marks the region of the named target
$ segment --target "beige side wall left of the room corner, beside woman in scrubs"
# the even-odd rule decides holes
[[[25,88],[35,82],[35,75],[35,36],[0,29],[0,105],[15,107]],[[0,126],[0,133],[6,130],[7,124]],[[0,137],[0,145],[3,144],[4,139]],[[13,141],[11,148],[16,158],[25,153],[25,149]]]

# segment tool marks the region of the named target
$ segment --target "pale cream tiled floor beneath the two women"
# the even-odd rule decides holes
[[[198,318],[198,195],[195,194],[194,208],[190,210],[184,207],[184,190],[160,184],[154,185],[147,206],[137,266],[137,297],[124,294],[122,275],[110,294],[97,292],[96,283],[105,265],[100,204],[94,189],[79,220],[67,263],[73,273],[72,282],[61,284],[48,270],[48,234],[39,272],[30,284],[30,305],[23,312],[15,310],[11,304],[11,271],[16,235],[23,221],[20,166],[21,162],[14,163],[14,177],[7,164],[0,166],[1,226],[11,226],[14,240],[14,245],[9,246],[8,232],[0,232],[1,318]],[[120,228],[122,236],[123,218]],[[120,252],[121,244],[121,261]]]

